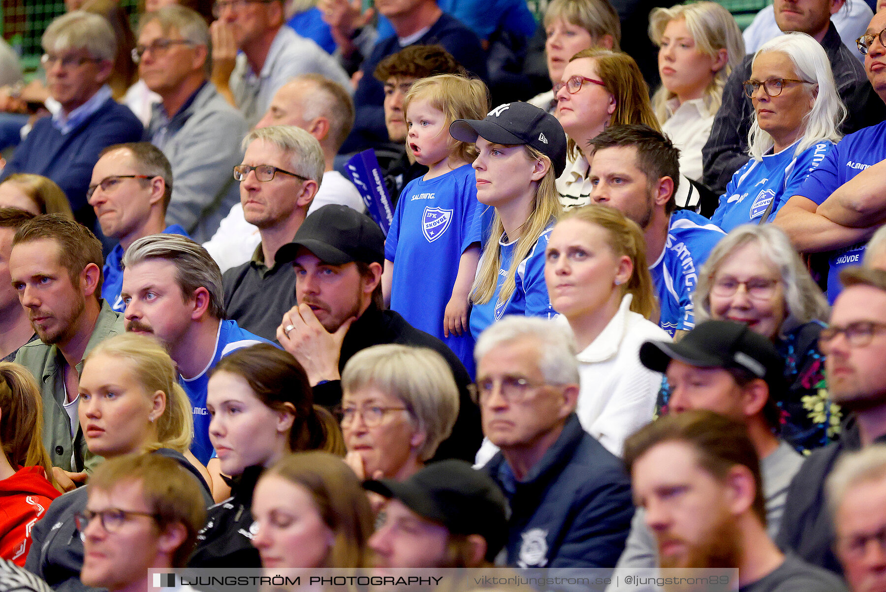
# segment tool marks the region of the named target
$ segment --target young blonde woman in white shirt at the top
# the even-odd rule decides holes
[[[649,13],[662,85],[652,107],[680,149],[680,173],[702,178],[702,148],[711,136],[723,87],[744,57],[742,31],[716,2],[677,4]]]

